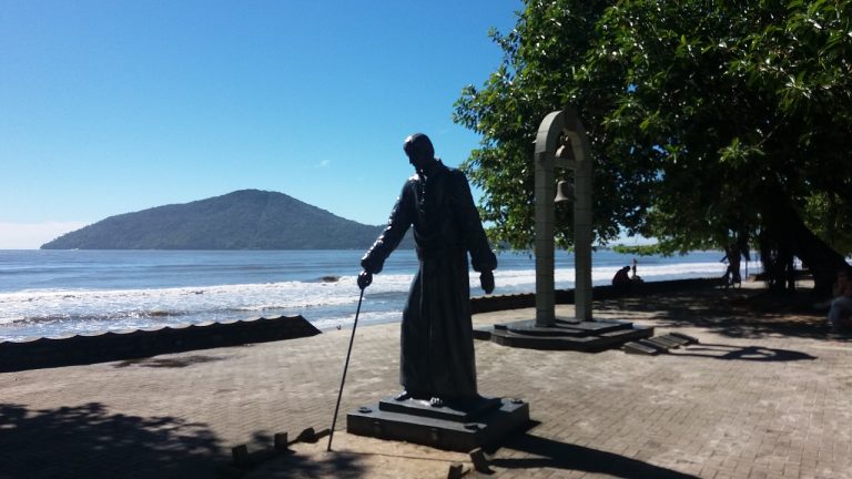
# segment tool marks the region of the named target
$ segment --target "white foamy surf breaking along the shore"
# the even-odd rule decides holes
[[[592,284],[608,284],[618,266],[592,269]],[[640,267],[645,281],[721,276],[720,263],[668,263]],[[497,269],[496,294],[531,293],[534,269]],[[557,288],[572,288],[575,269],[557,267]],[[128,289],[27,289],[0,293],[0,339],[57,337],[103,330],[302,315],[320,328],[351,324],[358,300],[355,275],[336,281],[287,281],[193,287]],[[398,320],[412,274],[375,275],[362,308],[365,322]],[[333,279],[333,278],[332,278]],[[478,274],[471,294],[480,295]]]

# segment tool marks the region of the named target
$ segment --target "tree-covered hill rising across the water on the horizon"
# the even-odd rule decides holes
[[[383,228],[342,218],[283,193],[241,190],[110,216],[41,248],[366,249]]]

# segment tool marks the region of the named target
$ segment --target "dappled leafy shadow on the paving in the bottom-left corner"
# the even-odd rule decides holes
[[[110,414],[99,402],[0,404],[0,479],[211,478],[220,439],[204,424]]]

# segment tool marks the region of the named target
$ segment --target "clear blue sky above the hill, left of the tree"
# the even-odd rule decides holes
[[[382,224],[520,0],[0,0],[0,248],[242,188]]]

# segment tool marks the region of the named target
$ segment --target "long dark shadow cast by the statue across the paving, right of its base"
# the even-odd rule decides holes
[[[536,424],[531,427],[535,427]],[[607,475],[623,479],[696,479],[683,472],[653,466],[638,459],[582,446],[559,442],[531,435],[529,430],[515,435],[501,448],[525,452],[531,457],[494,458],[489,463],[505,469],[562,469]]]

